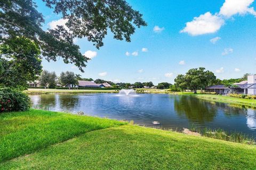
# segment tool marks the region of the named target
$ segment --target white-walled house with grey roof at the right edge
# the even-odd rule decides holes
[[[232,92],[238,94],[256,95],[256,74],[248,75],[247,81],[234,83],[230,87],[225,85],[214,85],[206,88],[208,92],[217,92],[218,94],[227,95]]]

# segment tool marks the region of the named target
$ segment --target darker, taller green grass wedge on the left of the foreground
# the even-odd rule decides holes
[[[34,109],[0,114],[0,162],[85,132],[123,124],[126,123]]]

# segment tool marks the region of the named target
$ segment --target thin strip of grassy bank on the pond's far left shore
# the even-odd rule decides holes
[[[65,90],[65,89],[28,89],[25,90],[29,95],[41,94],[78,94],[78,93],[118,93],[118,90]]]

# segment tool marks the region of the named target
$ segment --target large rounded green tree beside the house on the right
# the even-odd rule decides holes
[[[175,85],[182,91],[188,88],[196,94],[196,90],[205,89],[214,84],[216,77],[213,72],[205,71],[205,68],[199,67],[198,69],[190,69],[185,75],[178,75],[174,81]]]

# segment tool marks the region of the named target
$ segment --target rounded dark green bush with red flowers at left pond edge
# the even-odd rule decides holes
[[[10,88],[0,88],[0,113],[11,111],[27,111],[30,98],[23,92]]]

